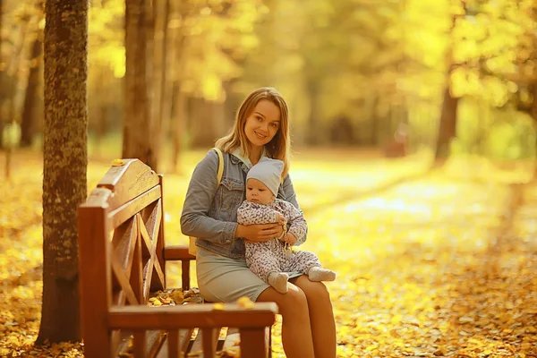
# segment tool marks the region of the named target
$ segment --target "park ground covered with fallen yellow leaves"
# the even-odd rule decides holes
[[[165,177],[168,243],[185,242],[180,210],[202,154],[189,155],[183,175]],[[0,356],[82,356],[80,343],[33,345],[42,167],[35,154],[18,156],[11,183],[0,186]],[[91,162],[90,187],[108,165]],[[296,155],[294,183],[310,226],[303,248],[338,273],[328,283],[338,357],[537,357],[533,166],[465,159],[429,168],[426,156]],[[178,286],[177,270],[168,268],[169,286]],[[279,328],[275,357],[284,356]]]

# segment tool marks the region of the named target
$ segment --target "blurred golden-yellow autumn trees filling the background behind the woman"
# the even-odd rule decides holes
[[[134,3],[144,6],[134,29],[146,49],[129,62],[125,4]],[[0,145],[9,137],[5,128],[19,126],[20,144],[40,148],[42,4],[0,4]],[[154,166],[173,171],[182,150],[210,147],[228,130],[245,94],[274,86],[288,100],[297,146],[389,153],[396,138],[405,138],[408,150],[429,149],[439,158],[534,158],[535,6],[533,0],[93,0],[90,156],[120,157],[129,141],[124,128],[132,126],[154,141]],[[145,82],[143,115],[126,70],[142,61],[146,73],[134,77]]]

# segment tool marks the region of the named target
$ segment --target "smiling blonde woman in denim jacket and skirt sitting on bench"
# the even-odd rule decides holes
[[[247,296],[251,301],[277,303],[288,358],[336,357],[336,323],[326,286],[292,273],[288,292],[280,294],[246,266],[244,240],[266,242],[280,237],[283,227],[277,223],[242,226],[236,222],[237,209],[245,199],[246,174],[263,156],[284,162],[285,179],[278,198],[298,208],[288,175],[291,141],[284,98],[272,88],[251,92],[239,108],[234,128],[217,141],[216,147],[224,153],[220,185],[217,153],[210,150],[194,169],[181,216],[183,234],[198,237],[200,294],[209,302],[234,302]]]

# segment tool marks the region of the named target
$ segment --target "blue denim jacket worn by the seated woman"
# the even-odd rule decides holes
[[[248,166],[230,153],[224,155],[224,173],[217,187],[218,155],[209,150],[194,169],[184,198],[181,231],[196,237],[196,246],[233,259],[244,258],[244,241],[234,238],[237,209],[246,199],[245,182]],[[289,201],[299,209],[293,183],[286,175],[277,198]],[[307,234],[300,242],[306,241]]]

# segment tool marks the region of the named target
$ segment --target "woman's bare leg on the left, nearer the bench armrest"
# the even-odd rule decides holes
[[[257,302],[277,303],[283,318],[282,343],[287,358],[316,357],[313,354],[308,301],[303,290],[289,284],[287,293],[279,294],[273,287],[268,287],[259,295]]]

